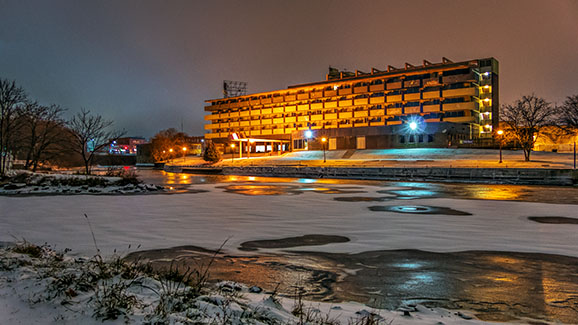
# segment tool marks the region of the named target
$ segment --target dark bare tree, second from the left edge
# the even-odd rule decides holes
[[[52,158],[60,151],[57,145],[64,139],[62,112],[64,109],[58,105],[26,103],[21,114],[22,128],[19,132],[24,151],[24,168],[36,171],[40,162]]]

